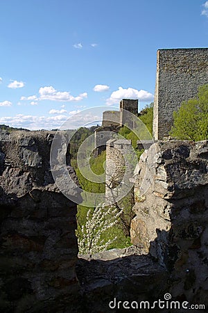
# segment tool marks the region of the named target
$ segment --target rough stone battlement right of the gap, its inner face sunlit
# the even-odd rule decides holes
[[[208,141],[152,145],[135,172],[135,202],[132,243],[171,272],[173,297],[207,304]]]

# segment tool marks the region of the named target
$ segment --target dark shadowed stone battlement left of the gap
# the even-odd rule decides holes
[[[79,289],[76,204],[54,184],[52,139],[0,133],[1,312],[63,312]]]

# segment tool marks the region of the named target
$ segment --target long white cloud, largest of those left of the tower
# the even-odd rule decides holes
[[[64,102],[71,102],[71,101],[80,101],[84,98],[87,98],[87,93],[81,93],[77,97],[73,97],[70,95],[68,91],[57,91],[52,86],[49,87],[41,87],[39,89],[40,93],[40,100],[51,100],[51,101],[64,101]]]

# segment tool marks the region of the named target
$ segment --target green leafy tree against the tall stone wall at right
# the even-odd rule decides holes
[[[200,86],[197,98],[182,102],[180,109],[173,112],[170,135],[180,140],[208,139],[208,84]]]

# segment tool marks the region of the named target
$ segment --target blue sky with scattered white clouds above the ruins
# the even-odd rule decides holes
[[[0,124],[59,128],[126,97],[141,109],[153,101],[157,49],[207,39],[208,1],[1,1]]]

